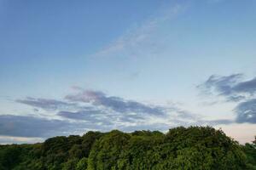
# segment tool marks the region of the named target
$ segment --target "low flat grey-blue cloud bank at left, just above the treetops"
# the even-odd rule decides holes
[[[68,122],[35,116],[0,116],[0,136],[49,138],[53,136],[85,133],[88,129],[108,131],[113,126],[101,122]]]

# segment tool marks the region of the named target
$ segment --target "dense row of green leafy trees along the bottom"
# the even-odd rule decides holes
[[[256,169],[255,142],[238,144],[212,127],[88,132],[0,145],[0,170],[247,170]]]

